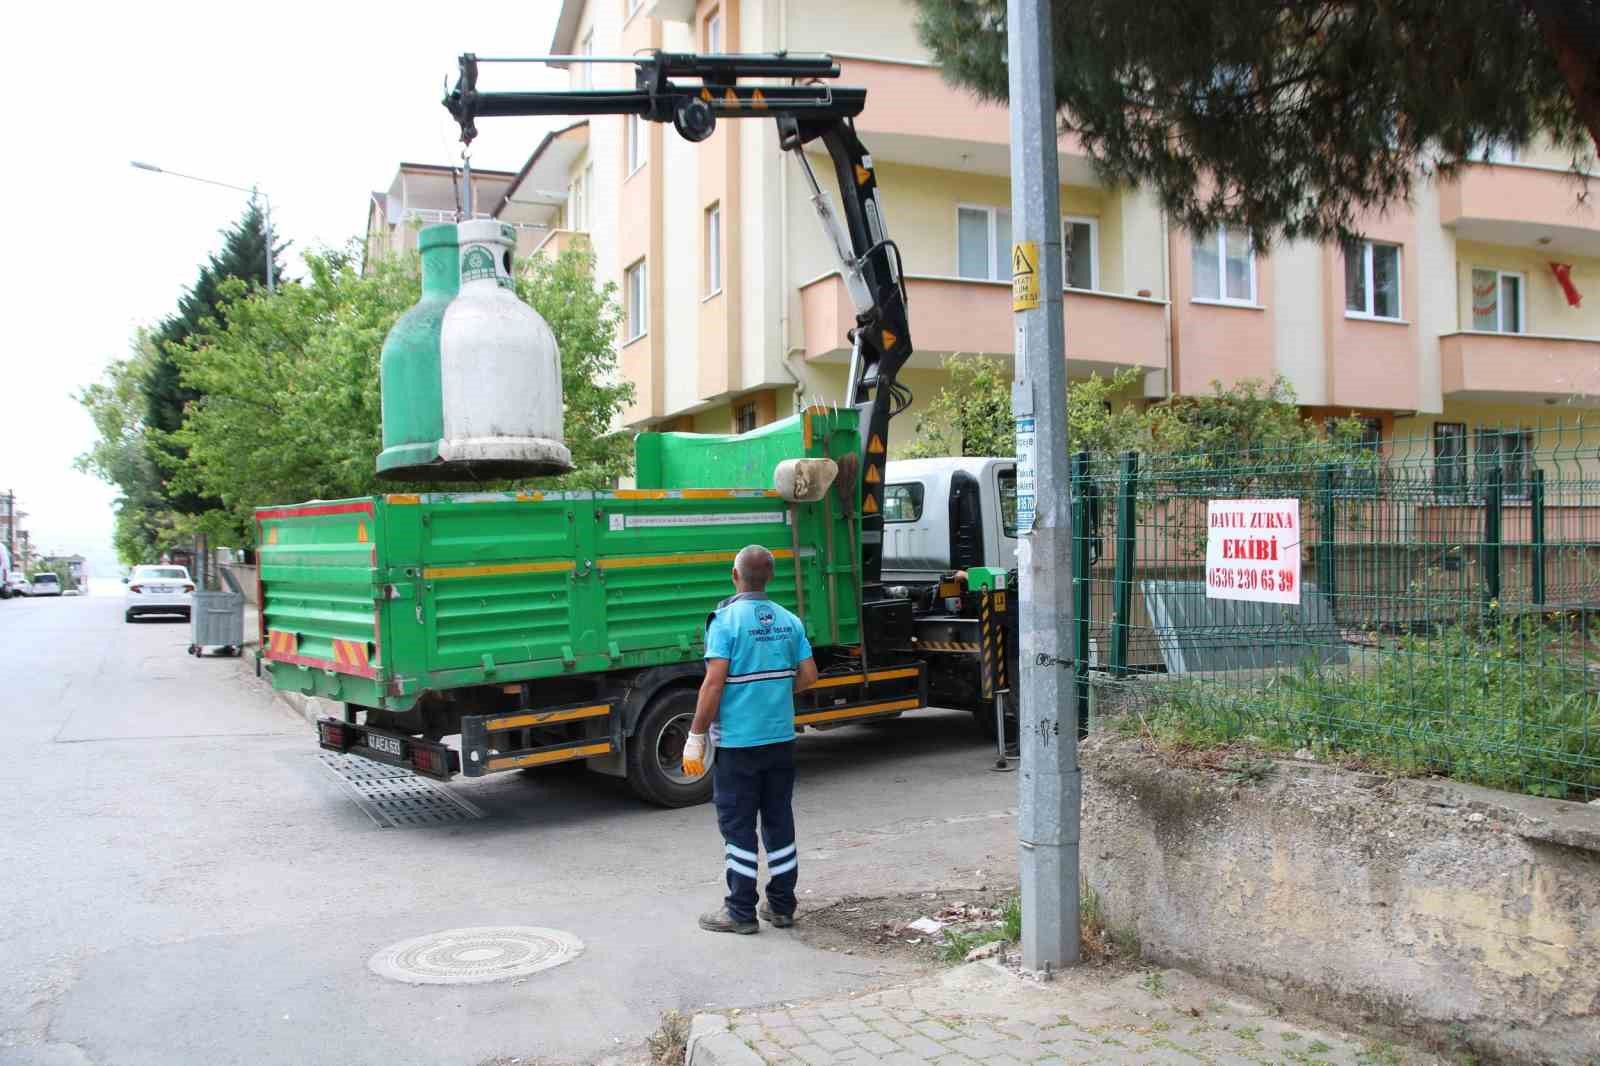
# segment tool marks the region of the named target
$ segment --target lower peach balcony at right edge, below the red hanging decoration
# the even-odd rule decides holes
[[[1600,402],[1600,338],[1446,333],[1438,338],[1438,360],[1448,397]]]

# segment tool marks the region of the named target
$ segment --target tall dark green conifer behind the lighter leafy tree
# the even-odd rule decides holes
[[[171,354],[173,346],[186,344],[190,338],[203,333],[206,323],[221,317],[218,307],[222,303],[221,285],[224,280],[237,277],[253,288],[264,287],[267,282],[266,214],[254,198],[240,219],[221,232],[221,237],[222,250],[200,264],[195,283],[178,299],[178,312],[165,319],[154,333],[155,355],[142,383],[144,426],[154,450],[152,461],[163,471],[173,469],[176,463],[182,461],[186,450],[173,440],[171,434],[182,427],[184,408],[200,397],[197,391],[179,381],[178,363]],[[278,256],[288,248],[288,243],[274,243],[272,277],[278,280],[283,277]],[[165,496],[166,503],[181,514],[200,514],[221,506],[216,499],[186,491],[165,490]]]

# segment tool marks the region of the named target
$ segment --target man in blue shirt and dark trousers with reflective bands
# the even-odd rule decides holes
[[[722,829],[728,896],[702,914],[714,933],[757,933],[757,914],[778,928],[795,920],[795,699],[816,683],[805,623],[766,599],[773,554],[750,544],[733,560],[734,595],[706,623],[706,680],[683,746],[683,771],[706,773]],[[707,741],[707,730],[710,738]],[[757,911],[755,828],[766,842],[766,903]]]

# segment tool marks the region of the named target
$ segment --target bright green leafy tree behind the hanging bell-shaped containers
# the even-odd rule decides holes
[[[418,258],[378,259],[365,275],[350,253],[309,254],[306,266],[304,283],[274,296],[224,282],[218,320],[171,349],[182,386],[197,395],[173,434],[186,451],[174,485],[221,501],[203,530],[226,543],[251,541],[251,512],[261,504],[405,488],[374,471],[382,447],[378,357],[421,293]],[[587,253],[568,251],[528,264],[517,288],[555,331],[565,435],[578,464],[539,483],[611,485],[629,469],[630,439],[610,426],[632,399],[632,386],[614,381],[614,287],[595,283]]]

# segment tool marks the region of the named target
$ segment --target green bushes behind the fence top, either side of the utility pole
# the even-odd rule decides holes
[[[949,381],[917,419],[917,440],[906,458],[947,455],[1013,455],[1016,419],[1011,379],[986,357],[949,357]],[[1242,381],[1230,389],[1213,383],[1210,395],[1179,395],[1139,407],[1142,375],[1120,370],[1090,375],[1067,389],[1070,450],[1096,455],[1139,451],[1176,456],[1176,466],[1248,466],[1259,463],[1347,461],[1360,423],[1338,419],[1326,427],[1307,421],[1283,378],[1270,384]],[[1166,466],[1173,466],[1168,463]]]

